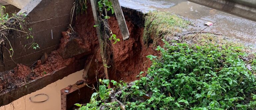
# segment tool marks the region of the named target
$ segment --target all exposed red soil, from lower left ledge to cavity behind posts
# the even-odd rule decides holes
[[[120,42],[111,45],[113,50],[111,57],[113,62],[109,68],[111,80],[123,80],[126,82],[136,80],[136,76],[141,71],[147,70],[150,66],[151,62],[146,56],[157,53],[152,46],[146,47],[144,45],[142,40],[143,28],[138,26],[138,21],[134,24],[133,18],[130,17],[131,15],[125,15],[130,32],[128,40],[122,39],[116,18],[111,17],[109,19],[111,30],[120,39]],[[87,63],[90,58],[94,58],[91,68],[93,69],[93,74],[103,78],[101,75],[104,75],[104,67],[100,57],[96,29],[93,25],[92,9],[88,8],[86,14],[77,16],[75,26],[73,27],[75,32],[71,32],[71,30],[62,32],[63,38],[61,39],[59,49],[51,52],[44,64],[40,60],[32,66],[18,64],[14,70],[0,73],[0,91],[3,93],[32,80],[37,80],[42,76],[53,74],[63,67],[69,67],[69,65],[78,63],[81,59],[87,59],[85,62]],[[73,69],[73,67],[69,69]]]

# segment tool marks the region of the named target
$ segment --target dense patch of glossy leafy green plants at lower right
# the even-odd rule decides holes
[[[127,110],[255,109],[256,77],[239,58],[247,56],[242,47],[166,42],[157,50],[161,57],[148,56],[152,66],[146,77],[132,85],[111,81],[116,87],[100,89],[84,110],[120,109],[116,101],[107,103],[113,95]]]

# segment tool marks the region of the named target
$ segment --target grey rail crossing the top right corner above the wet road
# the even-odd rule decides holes
[[[188,0],[210,8],[256,21],[255,0]],[[234,2],[235,1],[235,2]]]

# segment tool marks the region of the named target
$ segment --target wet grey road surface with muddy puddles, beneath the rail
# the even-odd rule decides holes
[[[228,39],[256,47],[256,22],[235,15],[208,8],[186,0],[121,0],[121,5],[137,9],[143,13],[149,11],[169,11],[187,17],[198,30],[204,29],[206,22],[216,22],[205,31],[219,32]],[[229,16],[230,15],[230,16]]]

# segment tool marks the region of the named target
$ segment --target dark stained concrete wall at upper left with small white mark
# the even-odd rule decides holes
[[[32,28],[31,35],[40,49],[34,50],[24,47],[28,41],[26,33],[10,35],[9,41],[13,47],[12,59],[7,49],[3,49],[4,66],[0,66],[0,72],[13,69],[16,64],[32,64],[39,60],[43,53],[49,54],[58,48],[61,32],[66,31],[70,24],[71,8],[74,0],[32,0],[19,13],[26,11],[27,28]],[[29,31],[27,31],[30,33]],[[6,47],[10,47],[7,45]],[[14,60],[14,61],[13,61]]]

